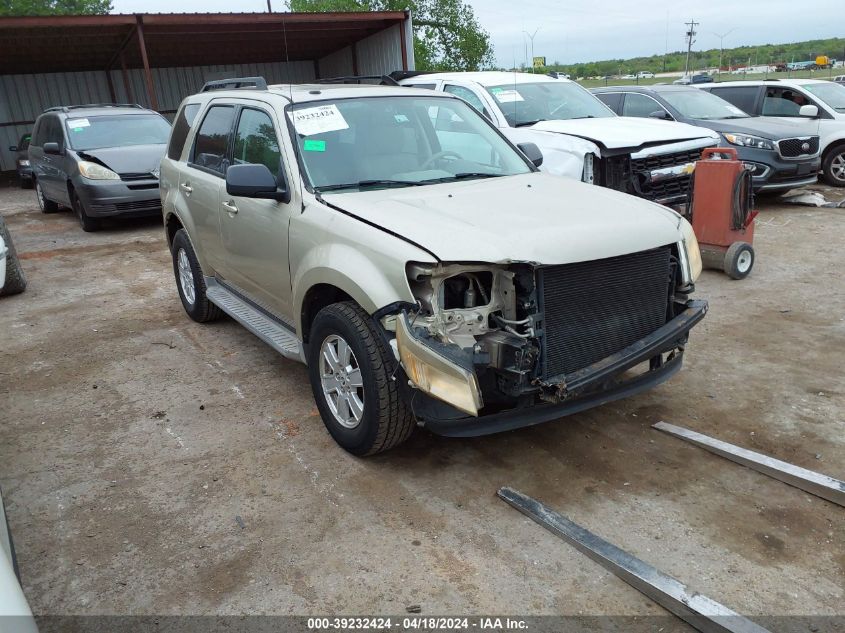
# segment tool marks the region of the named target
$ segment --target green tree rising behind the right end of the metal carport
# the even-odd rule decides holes
[[[411,9],[418,70],[478,70],[493,64],[490,35],[463,0],[289,0],[291,11]]]

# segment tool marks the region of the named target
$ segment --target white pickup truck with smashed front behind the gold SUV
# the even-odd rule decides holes
[[[536,143],[541,169],[679,205],[695,161],[719,136],[685,123],[620,117],[573,81],[499,71],[407,73],[399,84],[467,101],[514,143]]]

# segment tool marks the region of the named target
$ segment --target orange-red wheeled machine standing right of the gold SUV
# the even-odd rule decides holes
[[[751,171],[736,150],[708,147],[693,172],[692,229],[705,267],[743,279],[754,266]]]

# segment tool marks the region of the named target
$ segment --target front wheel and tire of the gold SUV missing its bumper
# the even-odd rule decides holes
[[[343,449],[374,455],[414,430],[399,392],[397,362],[378,325],[353,302],[329,305],[314,318],[308,375],[323,423]]]

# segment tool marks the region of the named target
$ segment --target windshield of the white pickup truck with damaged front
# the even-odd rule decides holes
[[[569,81],[507,84],[491,86],[487,91],[493,95],[511,127],[532,125],[537,121],[616,116],[581,86]]]

